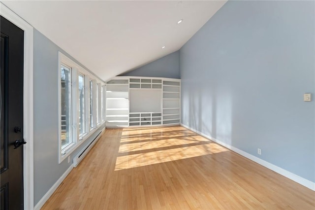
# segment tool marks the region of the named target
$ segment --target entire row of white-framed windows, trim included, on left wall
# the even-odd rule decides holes
[[[103,83],[61,52],[58,74],[60,119],[58,144],[61,163],[96,131],[94,128],[102,125],[99,111],[103,107],[100,104],[102,100],[100,87]]]

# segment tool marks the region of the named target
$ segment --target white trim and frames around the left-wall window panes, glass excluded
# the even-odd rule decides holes
[[[69,68],[71,68],[71,79],[72,79],[72,99],[71,99],[71,120],[72,120],[72,141],[73,143],[71,143],[69,146],[67,146],[63,151],[61,150],[61,74],[60,74],[60,68],[61,65],[67,66]],[[85,113],[86,113],[86,132],[85,134],[82,136],[82,139],[80,140],[79,138],[79,116],[78,116],[78,74],[83,74],[85,76]],[[95,117],[93,117],[94,120],[94,128],[90,130],[90,113],[89,113],[89,106],[87,106],[87,104],[89,104],[89,97],[90,97],[90,91],[89,91],[89,82],[90,79],[93,80],[93,88],[95,91],[94,95],[96,95],[96,87],[97,87],[97,83],[100,84],[104,84],[102,81],[100,81],[99,79],[97,79],[93,74],[91,74],[91,72],[89,72],[88,70],[84,69],[83,67],[81,67],[80,65],[78,65],[77,63],[75,63],[74,61],[72,61],[70,58],[68,58],[67,56],[65,56],[63,53],[58,52],[58,105],[59,105],[59,109],[58,109],[58,116],[59,116],[59,127],[58,127],[58,132],[59,132],[59,138],[58,138],[58,145],[59,145],[59,149],[58,149],[58,160],[59,160],[59,164],[62,163],[76,148],[78,148],[85,140],[87,140],[95,131],[96,128],[98,128],[99,126],[103,125],[104,122],[102,123],[97,123],[96,122],[96,97],[93,97],[93,114],[95,115]],[[88,84],[88,85],[87,85]],[[89,113],[87,115],[87,113]],[[98,113],[97,113],[98,114]]]

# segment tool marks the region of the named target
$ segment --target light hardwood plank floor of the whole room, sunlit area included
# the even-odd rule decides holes
[[[314,210],[315,192],[180,126],[106,129],[42,209]]]

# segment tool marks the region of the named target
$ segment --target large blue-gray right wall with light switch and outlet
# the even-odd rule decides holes
[[[182,123],[313,182],[314,4],[228,1],[180,49]]]

